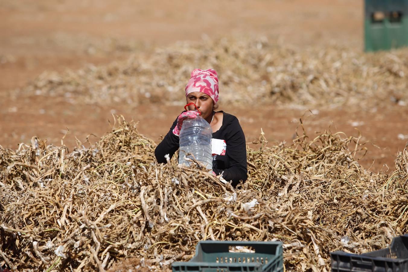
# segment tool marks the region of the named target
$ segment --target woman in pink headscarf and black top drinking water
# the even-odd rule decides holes
[[[218,101],[218,76],[213,69],[194,69],[186,86],[186,102],[194,103],[201,111],[201,116],[213,129],[212,153],[213,172],[222,174],[226,181],[232,181],[235,187],[240,181],[246,181],[246,144],[245,135],[238,119],[224,111],[215,111]],[[166,163],[166,154],[170,158],[179,148],[179,134],[186,118],[196,118],[194,106],[183,111],[173,122],[169,133],[157,145],[157,162]]]

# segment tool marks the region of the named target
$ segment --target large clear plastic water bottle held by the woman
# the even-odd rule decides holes
[[[201,116],[193,119],[185,119],[179,135],[179,164],[186,166],[193,164],[193,156],[205,167],[212,171],[213,156],[211,139],[213,138],[213,129],[210,124]],[[187,155],[187,153],[190,153]],[[191,155],[192,154],[192,155]],[[191,159],[185,160],[184,157]]]

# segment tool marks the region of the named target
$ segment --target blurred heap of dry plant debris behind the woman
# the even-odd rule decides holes
[[[110,65],[44,72],[12,95],[58,96],[71,103],[99,105],[177,104],[183,100],[190,72],[212,67],[220,75],[221,103],[407,105],[407,59],[408,49],[365,54],[337,45],[293,49],[259,37],[203,39],[157,48],[153,54],[135,53]]]

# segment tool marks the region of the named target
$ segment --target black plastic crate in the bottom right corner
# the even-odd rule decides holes
[[[390,247],[364,254],[330,252],[333,272],[408,272],[408,234],[392,239]]]

